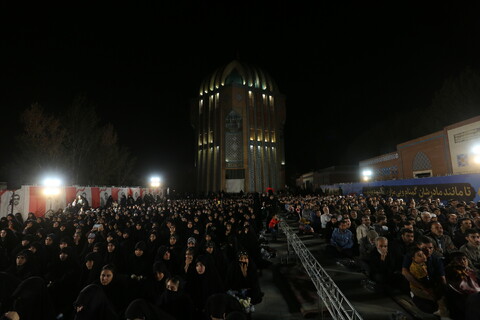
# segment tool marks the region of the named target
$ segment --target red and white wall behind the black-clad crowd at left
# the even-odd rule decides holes
[[[123,195],[132,196],[136,200],[147,193],[154,196],[164,194],[164,190],[160,188],[140,187],[67,186],[60,187],[58,194],[51,196],[46,195],[44,191],[45,188],[42,186],[29,185],[22,186],[18,190],[0,190],[0,217],[17,212],[20,212],[24,218],[29,212],[42,217],[48,210],[65,209],[67,204],[72,203],[79,195],[87,199],[91,207],[98,208],[103,206],[110,196],[113,200],[119,201]]]

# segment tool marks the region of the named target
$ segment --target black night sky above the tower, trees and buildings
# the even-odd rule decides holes
[[[2,164],[25,108],[62,112],[85,94],[138,157],[138,175],[158,172],[181,185],[193,167],[189,100],[237,57],[266,70],[286,95],[288,175],[357,164],[375,154],[346,159],[352,137],[429,105],[447,77],[479,66],[473,5],[330,2],[2,5]],[[408,128],[398,133],[398,142],[409,138]]]

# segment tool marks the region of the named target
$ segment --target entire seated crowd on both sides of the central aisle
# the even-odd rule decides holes
[[[280,213],[423,312],[480,319],[479,204],[362,195],[76,199],[0,219],[0,319],[246,319]]]

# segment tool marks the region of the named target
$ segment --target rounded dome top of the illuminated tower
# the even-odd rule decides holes
[[[241,85],[269,92],[278,91],[272,77],[256,66],[233,60],[216,69],[200,85],[200,95],[213,92],[226,85]]]

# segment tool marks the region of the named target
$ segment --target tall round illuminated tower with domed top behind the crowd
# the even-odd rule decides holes
[[[197,191],[285,186],[285,96],[262,69],[234,60],[200,85],[191,105]]]

